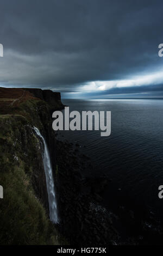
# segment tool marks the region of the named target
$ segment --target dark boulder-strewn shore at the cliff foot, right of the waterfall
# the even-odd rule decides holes
[[[57,140],[56,174],[60,215],[59,229],[71,244],[114,244],[117,231],[111,225],[106,210],[98,204],[99,196],[82,176],[87,157],[78,156],[72,144]],[[64,161],[63,161],[64,159]]]

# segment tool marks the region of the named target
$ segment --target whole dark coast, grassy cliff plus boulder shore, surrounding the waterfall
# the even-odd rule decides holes
[[[82,175],[91,168],[89,159],[52,130],[51,112],[63,107],[59,93],[0,88],[1,244],[95,245],[117,239],[111,219],[98,203],[100,197]],[[49,221],[42,149],[33,126],[51,154],[59,225]]]

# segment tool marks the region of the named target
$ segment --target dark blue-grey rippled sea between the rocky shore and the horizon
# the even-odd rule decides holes
[[[70,111],[111,111],[111,135],[100,131],[61,131],[70,142],[79,143],[91,157],[95,168],[91,175],[107,175],[136,200],[143,200],[159,215],[163,199],[163,100],[93,99],[62,103]],[[85,146],[85,147],[84,147]]]

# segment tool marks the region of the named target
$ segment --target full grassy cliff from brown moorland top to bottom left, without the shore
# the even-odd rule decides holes
[[[42,149],[33,126],[45,137],[54,167],[55,137],[49,111],[54,105],[62,107],[62,104],[60,96],[54,101],[53,92],[43,96],[53,105],[35,97],[40,92],[43,95],[39,89],[31,94],[24,89],[0,88],[0,185],[4,190],[4,199],[0,200],[2,244],[58,243],[55,229],[51,229],[48,220]]]

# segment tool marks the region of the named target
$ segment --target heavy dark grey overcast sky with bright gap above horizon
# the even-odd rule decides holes
[[[163,1],[0,0],[0,86],[163,97]]]

